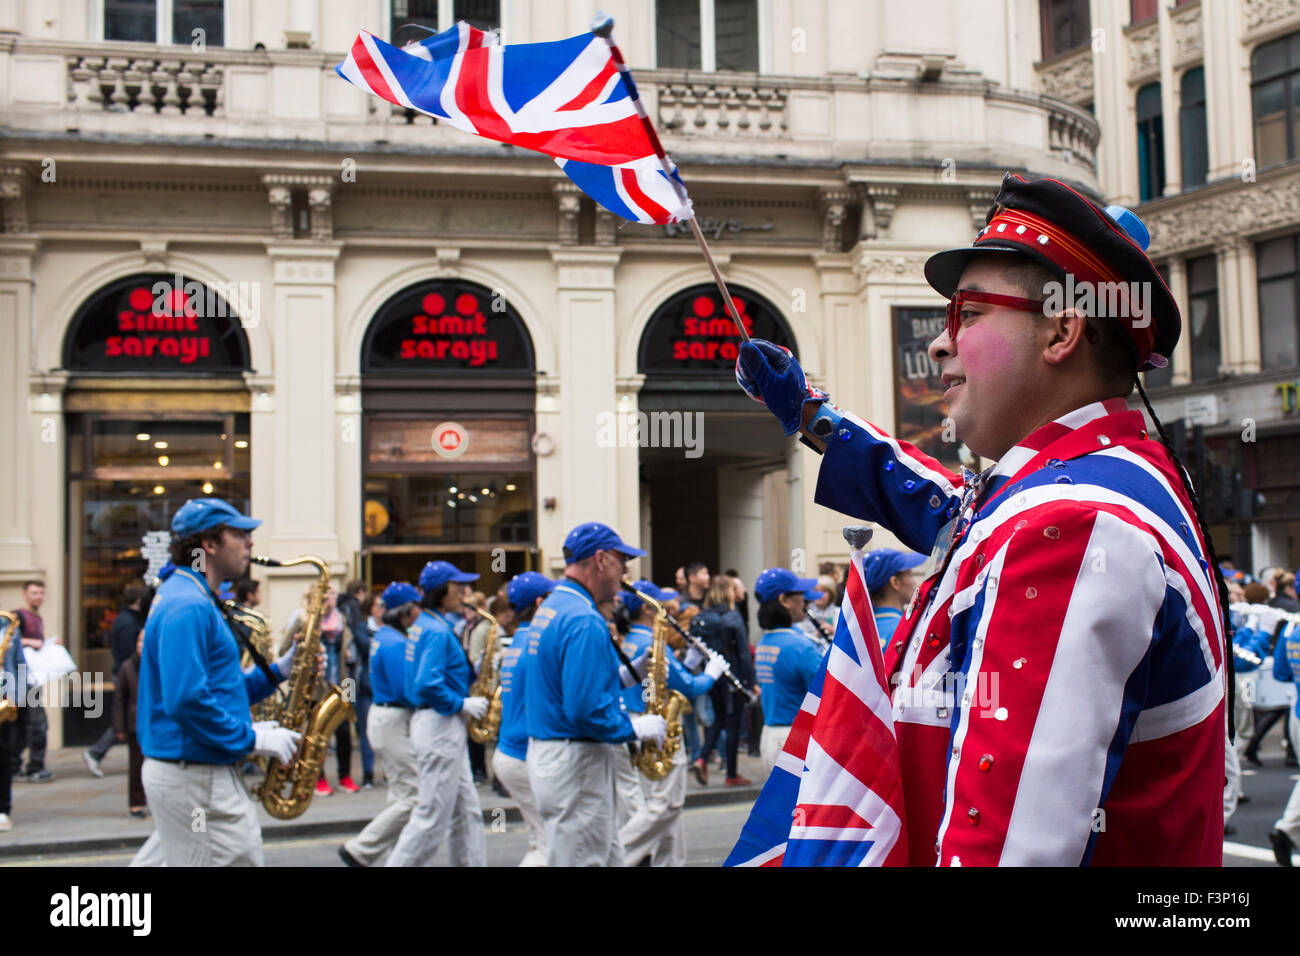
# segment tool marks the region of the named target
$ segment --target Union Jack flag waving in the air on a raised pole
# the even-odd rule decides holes
[[[389,103],[545,152],[624,219],[666,224],[692,216],[676,166],[660,160],[651,140],[630,74],[599,36],[503,46],[460,22],[398,48],[361,31],[334,69]]]

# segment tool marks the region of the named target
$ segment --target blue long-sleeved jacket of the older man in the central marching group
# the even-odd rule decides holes
[[[604,618],[581,584],[555,585],[533,615],[524,688],[528,736],[537,740],[632,740],[619,656]]]

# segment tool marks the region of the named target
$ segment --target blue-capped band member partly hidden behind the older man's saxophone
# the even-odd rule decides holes
[[[650,580],[640,580],[633,587],[664,605],[672,613],[670,604],[676,601],[677,592],[659,588]],[[632,627],[623,641],[623,653],[634,661],[649,653],[654,643],[655,609],[641,600],[640,594],[624,592],[623,602],[632,615]],[[668,656],[668,689],[679,691],[693,700],[708,693],[714,682],[727,670],[727,661],[720,654],[710,653],[708,663],[701,675],[692,674],[677,661],[672,649],[664,644]],[[688,652],[688,666],[697,666],[705,654],[692,648]],[[640,684],[624,689],[623,702],[630,714],[645,713],[644,691]],[[689,714],[686,715],[689,718]],[[685,739],[672,757],[672,770],[662,780],[641,777],[645,791],[645,804],[632,814],[632,818],[619,830],[624,860],[628,866],[640,866],[642,861],[650,866],[686,865],[686,826],[681,818],[681,808],[686,803],[686,765],[690,754]]]

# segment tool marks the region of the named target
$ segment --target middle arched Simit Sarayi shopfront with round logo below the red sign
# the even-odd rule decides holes
[[[491,596],[537,566],[533,346],[493,290],[434,280],[376,313],[361,350],[360,575],[415,583],[429,561]]]

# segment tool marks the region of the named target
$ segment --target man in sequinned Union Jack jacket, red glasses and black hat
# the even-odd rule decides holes
[[[1008,174],[972,246],[926,263],[982,475],[741,349],[741,386],[824,455],[818,503],[937,561],[885,656],[913,865],[1222,864],[1228,602],[1136,377],[1180,332],[1147,242],[1127,209]]]

